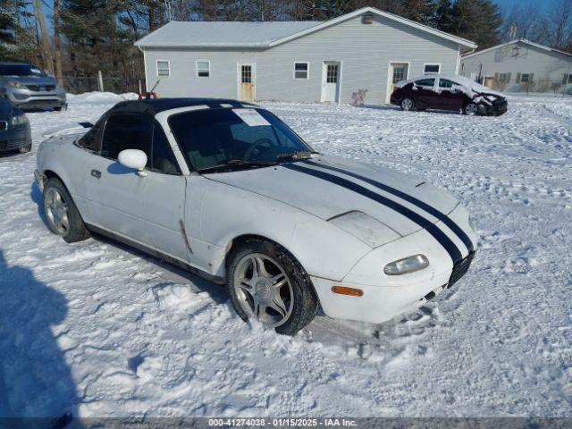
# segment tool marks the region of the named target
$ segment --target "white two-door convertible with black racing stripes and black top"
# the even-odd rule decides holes
[[[38,149],[47,226],[104,234],[214,282],[237,313],[293,334],[325,315],[381,323],[467,272],[476,236],[450,193],[315,153],[234,100],[115,105]]]

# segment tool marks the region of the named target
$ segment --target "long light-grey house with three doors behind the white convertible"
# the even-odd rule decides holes
[[[160,97],[388,103],[393,84],[458,71],[476,45],[366,7],[331,21],[172,21],[135,44]]]

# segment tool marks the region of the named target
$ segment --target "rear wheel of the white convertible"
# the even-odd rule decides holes
[[[52,178],[44,185],[47,228],[68,243],[86,240],[89,231],[62,181]]]

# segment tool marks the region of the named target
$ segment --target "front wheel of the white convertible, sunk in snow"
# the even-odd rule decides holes
[[[284,335],[299,332],[312,322],[318,309],[304,268],[288,250],[266,240],[248,239],[231,250],[226,289],[242,320],[256,318]]]

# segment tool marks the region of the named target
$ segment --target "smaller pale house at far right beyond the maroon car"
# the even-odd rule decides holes
[[[463,55],[460,74],[503,91],[563,91],[572,87],[572,54],[513,40]]]

